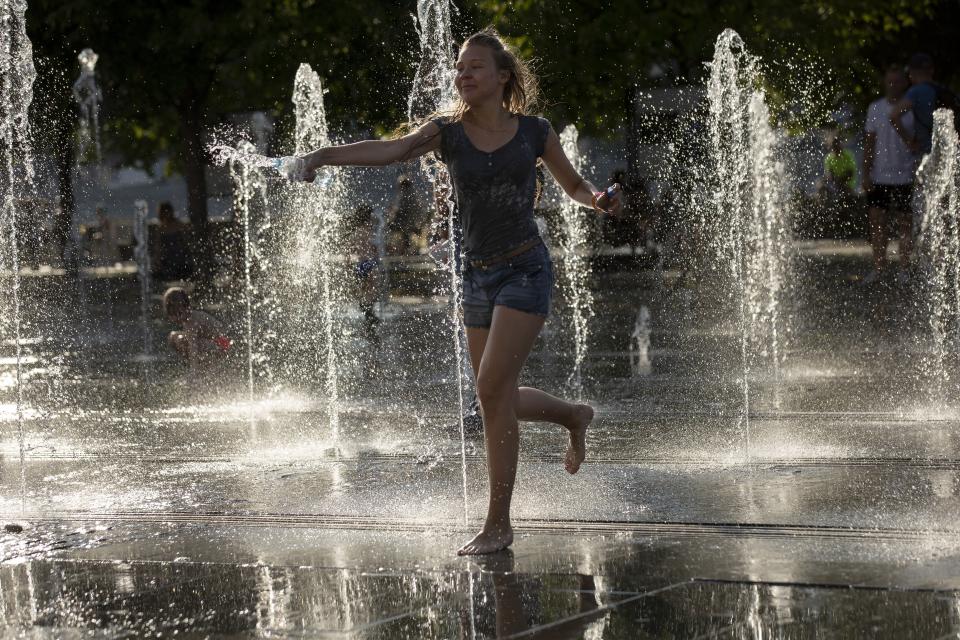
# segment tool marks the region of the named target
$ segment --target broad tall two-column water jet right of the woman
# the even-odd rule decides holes
[[[777,159],[758,59],[731,29],[717,38],[707,96],[713,198],[701,210],[715,264],[736,286],[743,371],[741,424],[750,455],[750,383],[753,368],[768,366],[779,379],[780,306],[789,265],[785,169]]]

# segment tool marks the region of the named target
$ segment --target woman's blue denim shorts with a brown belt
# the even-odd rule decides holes
[[[489,329],[497,305],[546,317],[553,295],[553,263],[544,244],[489,267],[463,272],[463,323]]]

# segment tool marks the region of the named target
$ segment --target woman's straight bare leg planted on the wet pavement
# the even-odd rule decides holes
[[[479,365],[475,350],[482,329],[468,329],[471,358],[477,376],[477,396],[483,411],[490,500],[487,519],[477,536],[463,545],[460,555],[493,553],[513,542],[510,500],[517,475],[520,433],[517,425],[517,380],[544,318],[503,306],[493,311],[493,322],[482,347]]]

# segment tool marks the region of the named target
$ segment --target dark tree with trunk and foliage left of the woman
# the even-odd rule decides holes
[[[403,113],[413,55],[406,3],[377,0],[32,0],[28,15],[38,66],[38,109],[47,143],[69,158],[76,116],[65,79],[76,54],[92,47],[104,94],[108,149],[187,183],[198,246],[207,237],[205,144],[234,112],[288,113],[301,62],[325,77],[336,124],[380,125]],[[399,22],[399,25],[398,25]],[[398,28],[402,26],[402,28]],[[45,95],[46,94],[46,95]],[[62,163],[69,164],[69,160]],[[198,257],[206,255],[201,251]]]

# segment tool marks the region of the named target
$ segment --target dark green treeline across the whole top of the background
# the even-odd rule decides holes
[[[956,0],[463,0],[454,35],[492,24],[537,60],[544,111],[597,135],[616,135],[636,88],[701,82],[725,27],[765,65],[770,95],[798,124],[819,126],[837,106],[865,108],[887,64],[925,51],[941,81],[960,78]],[[39,78],[38,144],[72,160],[70,84],[77,53],[101,55],[101,120],[111,158],[184,176],[190,218],[206,226],[204,142],[228,114],[271,113],[281,139],[301,62],[329,89],[333,129],[385,133],[405,117],[418,57],[413,0],[31,0]],[[786,113],[787,110],[781,110]],[[69,173],[69,172],[65,172]]]

